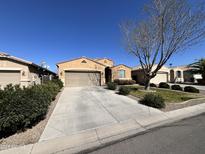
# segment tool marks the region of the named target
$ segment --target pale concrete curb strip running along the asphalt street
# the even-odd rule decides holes
[[[3,150],[0,154],[88,153],[203,113],[205,103],[150,116],[146,120],[130,119],[76,135]]]

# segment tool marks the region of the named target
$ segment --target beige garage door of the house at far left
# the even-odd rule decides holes
[[[20,84],[20,71],[0,71],[0,87]]]

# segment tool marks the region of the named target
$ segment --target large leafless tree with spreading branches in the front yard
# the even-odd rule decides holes
[[[151,0],[144,20],[121,24],[127,49],[143,69],[146,90],[173,54],[205,39],[202,6],[194,8],[186,0]]]

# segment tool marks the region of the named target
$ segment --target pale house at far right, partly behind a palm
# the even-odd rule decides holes
[[[202,79],[201,74],[194,74],[195,68],[188,66],[177,66],[170,68],[170,82],[197,82]]]

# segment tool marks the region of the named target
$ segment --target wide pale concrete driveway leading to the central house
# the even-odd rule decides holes
[[[65,88],[40,141],[160,113],[103,87]]]

